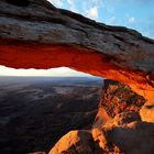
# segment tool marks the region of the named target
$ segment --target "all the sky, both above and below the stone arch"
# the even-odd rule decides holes
[[[80,13],[92,20],[134,29],[154,38],[154,0],[48,0],[55,7]],[[87,76],[66,67],[48,70],[13,69],[0,66],[0,75]]]

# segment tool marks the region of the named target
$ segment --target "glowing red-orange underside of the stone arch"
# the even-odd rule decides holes
[[[138,94],[153,94],[153,85],[147,82],[147,74],[120,67],[109,55],[79,45],[54,45],[0,41],[0,65],[13,68],[48,69],[66,66],[95,76],[106,77],[130,85]]]

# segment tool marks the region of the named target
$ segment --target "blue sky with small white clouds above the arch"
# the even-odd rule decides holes
[[[48,0],[67,9],[110,25],[135,29],[154,38],[154,0]]]

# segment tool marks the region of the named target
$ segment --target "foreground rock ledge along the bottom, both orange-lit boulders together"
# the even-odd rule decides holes
[[[136,120],[136,119],[134,119]],[[141,121],[109,122],[92,132],[72,131],[64,135],[50,154],[152,154],[154,124]],[[121,121],[116,119],[114,121]]]

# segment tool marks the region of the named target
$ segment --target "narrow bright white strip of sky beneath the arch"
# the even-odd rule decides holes
[[[68,67],[56,67],[51,69],[15,69],[0,65],[0,76],[12,77],[95,77],[90,74],[85,74],[70,69]]]

